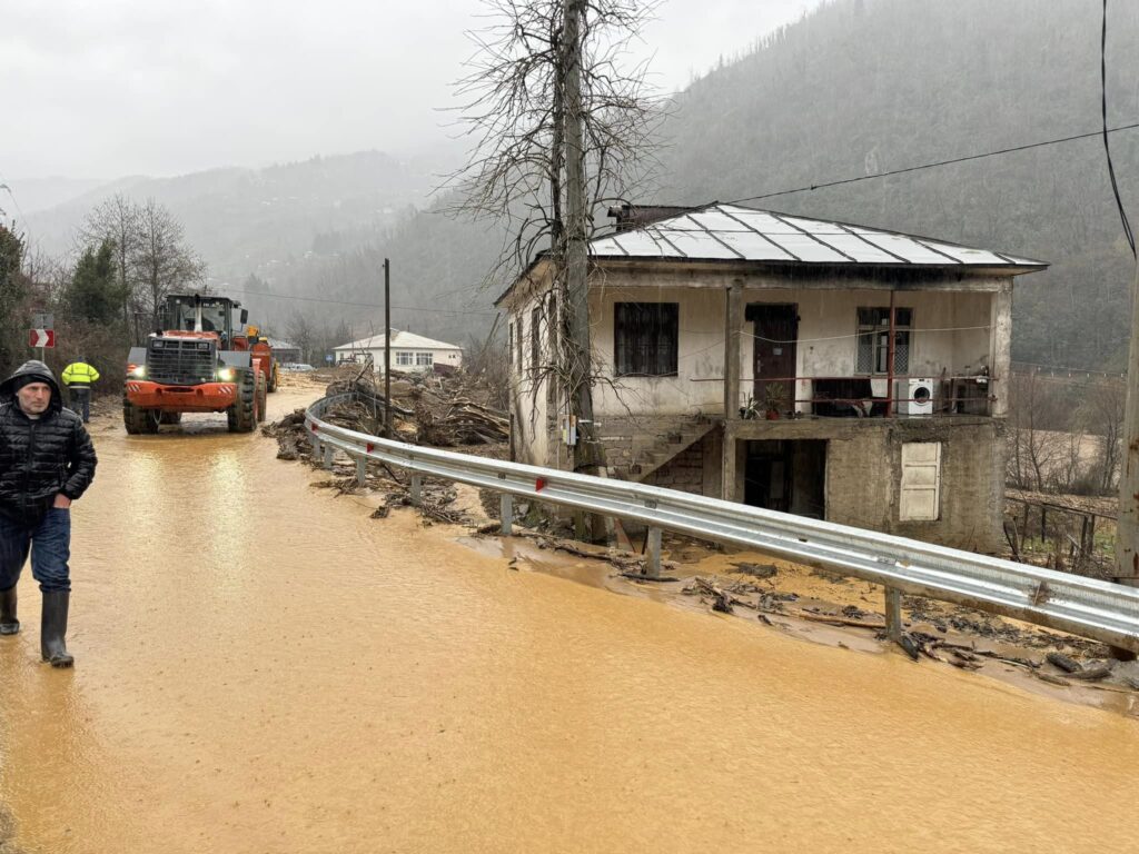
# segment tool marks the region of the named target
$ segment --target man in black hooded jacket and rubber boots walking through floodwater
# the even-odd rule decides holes
[[[43,362],[24,362],[0,383],[0,634],[19,631],[16,582],[32,555],[43,591],[40,651],[52,667],[71,667],[71,502],[95,478],[95,446],[83,421],[64,409]]]

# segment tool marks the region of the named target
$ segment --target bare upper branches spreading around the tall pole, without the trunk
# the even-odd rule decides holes
[[[548,245],[564,252],[567,115],[583,129],[587,211],[624,200],[655,166],[650,137],[662,116],[648,96],[644,64],[623,67],[629,43],[650,18],[648,0],[485,0],[484,30],[457,90],[459,118],[473,140],[466,165],[445,187],[453,213],[503,222],[507,252],[493,271],[513,278]],[[580,7],[580,98],[565,101],[567,6]]]

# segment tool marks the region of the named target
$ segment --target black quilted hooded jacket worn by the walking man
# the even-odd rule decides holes
[[[30,381],[51,387],[51,404],[38,419],[16,400],[16,391]],[[24,362],[0,383],[0,514],[25,525],[39,523],[57,494],[73,501],[83,494],[97,462],[83,420],[64,409],[48,366]]]

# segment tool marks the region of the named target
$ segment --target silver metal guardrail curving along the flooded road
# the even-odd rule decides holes
[[[412,475],[413,503],[423,476],[497,491],[505,534],[510,533],[510,498],[523,496],[648,525],[656,566],[658,532],[669,529],[882,584],[887,630],[895,639],[901,634],[900,593],[910,593],[1139,652],[1139,589],[658,486],[408,445],[321,419],[328,407],[352,396],[325,397],[305,413],[305,427],[327,466],[338,449],[357,461],[361,482],[367,460],[404,468]]]

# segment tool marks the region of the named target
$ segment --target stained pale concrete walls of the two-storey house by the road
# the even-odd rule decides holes
[[[710,282],[680,281],[649,285],[644,273],[613,273],[595,281],[590,291],[593,320],[595,367],[614,372],[614,305],[617,302],[675,302],[679,304],[678,376],[614,377],[613,387],[595,386],[598,435],[606,447],[613,475],[630,477],[705,495],[743,499],[746,441],[784,438],[826,441],[825,503],[827,518],[859,527],[915,536],[981,551],[997,548],[1003,492],[1002,419],[782,419],[772,422],[732,419],[730,435],[735,470],[727,469],[735,490],[722,490],[728,457],[724,432],[716,427],[673,459],[661,465],[652,458],[673,433],[693,430],[702,414],[722,417],[724,318],[727,293]],[[720,282],[723,279],[719,279]],[[776,280],[778,282],[784,279]],[[890,289],[882,281],[857,288],[823,282],[802,287],[771,287],[772,282],[745,280],[743,303],[794,303],[798,306],[798,376],[853,376],[858,356],[858,309],[886,307]],[[861,285],[861,282],[859,282]],[[803,282],[797,282],[803,285]],[[988,368],[992,391],[1000,393],[1007,371],[1011,289],[1005,282],[966,282],[959,290],[942,284],[932,288],[900,287],[895,305],[913,311],[910,338],[910,376],[973,375]],[[533,370],[533,309],[548,305],[548,282],[534,281],[515,294],[508,320],[513,326],[511,416],[517,459],[565,468],[568,449],[559,435],[563,414],[550,395],[547,376]],[[543,322],[546,314],[543,313]],[[743,323],[739,347],[741,383],[739,404],[753,378],[753,325]],[[546,328],[539,330],[540,360],[552,356]],[[800,397],[811,396],[804,380]],[[808,405],[800,404],[805,410]],[[994,412],[1003,414],[1000,403]],[[735,409],[731,410],[735,414]],[[902,522],[899,518],[901,447],[906,442],[940,442],[941,493],[939,518]],[[657,454],[658,455],[658,454]],[[729,454],[730,457],[730,454]],[[646,466],[659,466],[644,474]],[[814,468],[818,468],[814,466]],[[813,469],[812,469],[813,471]],[[814,476],[813,474],[810,476]]]

